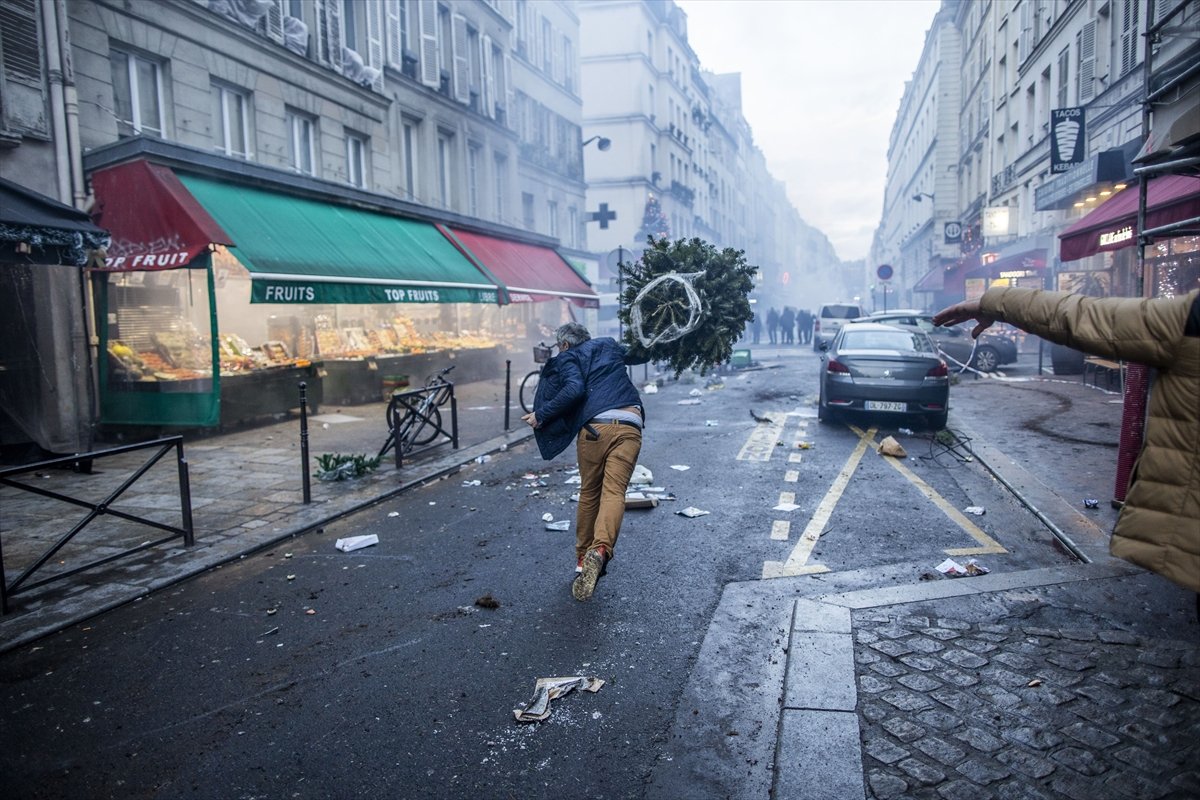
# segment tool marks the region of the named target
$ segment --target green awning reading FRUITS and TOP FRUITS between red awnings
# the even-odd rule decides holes
[[[251,302],[499,302],[432,224],[290,194],[179,179],[233,239]]]

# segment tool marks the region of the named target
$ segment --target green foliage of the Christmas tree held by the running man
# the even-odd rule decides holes
[[[631,354],[666,362],[677,377],[684,369],[698,368],[704,374],[719,363],[728,363],[734,343],[754,318],[749,296],[757,267],[746,264],[744,251],[716,249],[702,239],[671,242],[665,236],[648,236],[647,243],[642,258],[625,265],[625,288],[620,297],[620,320],[626,326],[624,338]],[[702,273],[692,281],[701,300],[700,321],[679,339],[646,348],[630,329],[632,303],[647,284],[672,272]],[[684,326],[690,307],[686,290],[677,281],[665,281],[653,288],[641,301],[646,337],[653,338],[672,324]]]

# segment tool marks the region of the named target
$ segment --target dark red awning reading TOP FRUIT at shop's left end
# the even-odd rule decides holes
[[[131,161],[92,173],[91,182],[96,224],[113,234],[107,270],[175,270],[211,245],[233,243],[167,167]]]

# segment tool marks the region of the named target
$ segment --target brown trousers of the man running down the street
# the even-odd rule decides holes
[[[625,516],[625,488],[642,450],[642,432],[630,425],[592,423],[599,434],[580,431],[580,505],[575,512],[575,555],[604,545],[612,557]]]

